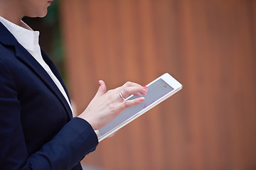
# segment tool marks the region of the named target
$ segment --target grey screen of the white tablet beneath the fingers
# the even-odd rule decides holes
[[[172,90],[174,90],[169,84],[167,84],[163,79],[159,79],[155,81],[153,84],[148,86],[148,91],[146,95],[143,95],[145,98],[145,101],[137,106],[133,106],[132,108],[127,108],[127,110],[123,111],[120,115],[117,116],[117,118],[114,118],[110,123],[105,125],[103,128],[101,128],[99,131],[102,135],[105,135],[105,133],[109,132],[110,130],[116,128],[121,123],[125,122],[132,116],[139,113],[139,111],[142,111],[144,108],[151,105],[151,103],[154,103],[154,101],[159,100],[159,98],[165,96],[166,94],[169,94]],[[132,96],[129,98],[129,100],[139,98],[137,96]]]

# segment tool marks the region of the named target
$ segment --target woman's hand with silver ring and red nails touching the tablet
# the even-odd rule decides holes
[[[144,102],[144,97],[133,100],[123,101],[119,93],[127,98],[134,94],[135,96],[145,95],[146,86],[141,86],[132,82],[127,82],[117,89],[107,91],[104,81],[99,81],[97,94],[78,117],[87,120],[94,130],[98,130],[114,120],[125,109]],[[106,92],[107,91],[107,92]]]

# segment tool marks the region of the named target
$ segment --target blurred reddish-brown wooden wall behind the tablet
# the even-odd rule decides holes
[[[256,169],[256,1],[60,1],[80,113],[125,81],[169,72],[183,89],[103,140],[96,169]]]

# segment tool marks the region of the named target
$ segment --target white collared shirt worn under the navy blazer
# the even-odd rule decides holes
[[[41,64],[43,69],[49,74],[50,78],[53,79],[58,89],[65,97],[68,105],[70,106],[71,111],[73,112],[70,101],[68,100],[68,95],[65,93],[63,86],[60,84],[60,81],[55,77],[53,72],[48,67],[48,64],[43,60],[41,55],[41,48],[39,46],[39,31],[33,31],[29,26],[26,25],[30,30],[23,28],[21,26],[16,25],[15,23],[11,23],[5,18],[0,16],[0,22],[4,24],[4,26],[14,35],[16,40],[26,49],[28,52],[36,59],[36,61]],[[23,22],[23,21],[22,21]]]

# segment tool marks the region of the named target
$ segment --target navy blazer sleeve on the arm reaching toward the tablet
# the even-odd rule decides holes
[[[72,169],[94,151],[97,135],[87,121],[73,118],[38,152],[28,155],[21,125],[21,103],[9,69],[0,60],[1,169]]]

